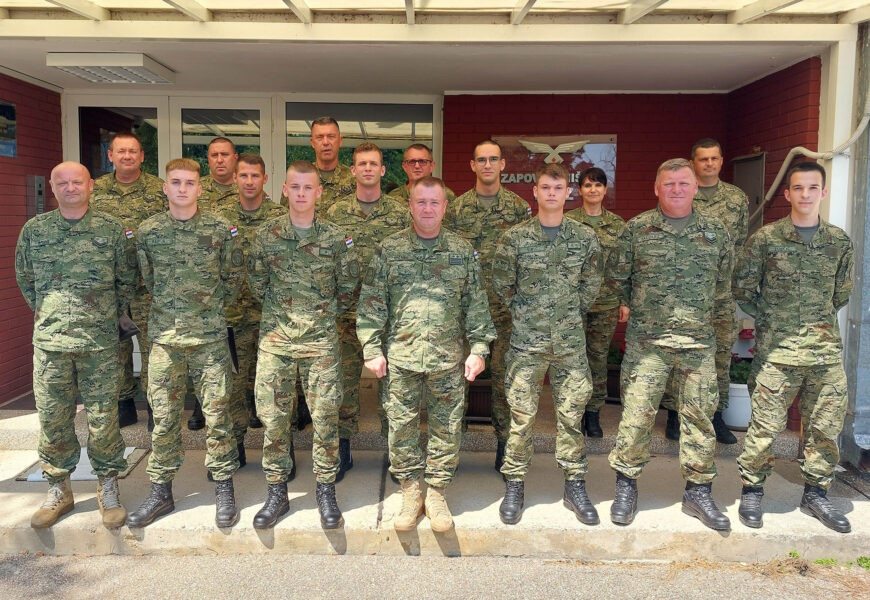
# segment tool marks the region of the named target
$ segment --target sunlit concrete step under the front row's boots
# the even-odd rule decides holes
[[[590,457],[589,495],[601,524],[589,527],[562,506],[562,474],[552,456],[535,457],[526,481],[526,508],[517,525],[504,525],[498,505],[504,484],[488,453],[463,453],[456,480],[448,488],[455,530],[434,534],[427,518],[416,530],[397,534],[393,517],[401,498],[385,470],[383,452],[354,452],[354,468],[337,486],[345,526],[321,529],[314,501],[311,455],[297,452],[299,474],[290,484],[291,510],[270,531],[252,528],[265,498],[261,454],[252,450],[248,465],[235,476],[242,507],[239,524],[227,530],[214,525],[214,486],[206,481],[204,452],[188,451],[174,482],[175,512],[144,529],[109,531],[100,521],[96,482],[74,482],[75,510],[54,527],[36,531],[30,516],[45,494],[45,483],[15,481],[37,460],[35,451],[0,452],[0,553],[49,554],[382,554],[446,556],[536,556],[556,559],[764,561],[797,551],[808,559],[836,558],[840,563],[866,555],[870,548],[870,500],[837,482],[829,497],[852,522],[850,534],[838,534],[802,514],[798,464],[777,462],[765,488],[765,526],[748,529],[737,518],[740,483],[735,461],[717,459],[720,476],[714,497],[731,518],[732,530],[717,533],[682,514],[684,482],[676,457],[657,456],[639,480],[639,508],[628,527],[610,523],[614,474],[605,456]],[[148,491],[145,461],[121,481],[121,496],[134,510]]]

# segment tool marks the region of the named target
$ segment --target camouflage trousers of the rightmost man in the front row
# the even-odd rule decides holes
[[[840,462],[837,437],[846,417],[842,363],[798,367],[761,362],[752,390],[752,416],[737,469],[743,485],[762,486],[773,471],[773,441],[785,429],[788,409],[800,394],[804,424],[804,480],[828,489]]]

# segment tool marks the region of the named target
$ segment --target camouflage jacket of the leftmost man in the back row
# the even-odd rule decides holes
[[[94,182],[91,192],[91,208],[119,219],[124,227],[139,228],[148,217],[169,210],[163,193],[163,180],[143,172],[127,192],[122,192],[115,173],[107,173]]]

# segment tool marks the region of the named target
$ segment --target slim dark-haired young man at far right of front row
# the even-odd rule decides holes
[[[840,460],[837,436],[846,415],[837,311],[852,292],[852,243],[843,230],[819,218],[827,194],[824,168],[799,163],[786,181],[791,214],[759,229],[734,271],[734,295],[756,326],[752,416],[737,459],[743,481],[740,521],[762,526],[762,486],[773,471],[771,447],[800,393],[806,432],[801,511],[847,533],[848,519],[826,493]]]

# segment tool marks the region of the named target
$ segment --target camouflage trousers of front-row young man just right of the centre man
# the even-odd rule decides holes
[[[511,348],[507,355],[507,401],[511,407],[511,432],[505,449],[502,474],[523,481],[532,462],[532,429],[544,375],[550,371],[556,410],[556,464],[565,479],[584,479],[589,468],[586,441],[580,421],[592,394],[592,380],[582,354],[555,356]]]

